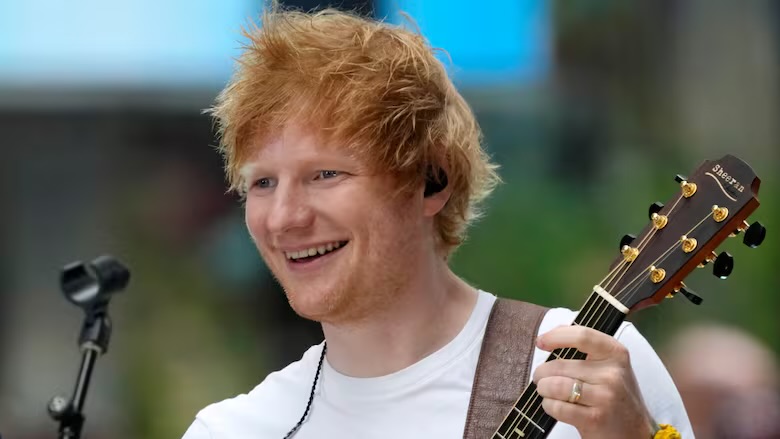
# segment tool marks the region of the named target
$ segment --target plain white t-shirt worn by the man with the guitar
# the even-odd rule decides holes
[[[326,361],[307,420],[295,439],[429,439],[462,438],[471,388],[495,296],[481,291],[472,314],[447,345],[419,362],[378,378],[352,378]],[[547,312],[539,334],[574,321],[576,313]],[[693,438],[682,400],[666,368],[630,323],[615,335],[631,354],[631,365],[645,403],[659,422],[674,425]],[[274,372],[254,390],[198,413],[183,439],[282,439],[298,422],[309,399],[322,345]],[[531,373],[548,353],[536,349]],[[519,395],[518,395],[519,396]],[[558,422],[549,439],[579,438],[577,430]]]

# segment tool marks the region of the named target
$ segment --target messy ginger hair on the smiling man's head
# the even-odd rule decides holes
[[[369,165],[392,172],[401,190],[430,169],[452,190],[435,218],[449,255],[498,181],[481,132],[442,63],[418,33],[336,10],[266,11],[237,70],[211,109],[231,190],[258,139],[292,120],[321,130]]]

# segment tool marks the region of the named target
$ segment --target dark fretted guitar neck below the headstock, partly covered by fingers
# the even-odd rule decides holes
[[[597,293],[591,294],[574,319],[574,325],[587,326],[605,334],[615,335],[626,314]],[[556,349],[546,361],[555,359],[583,360],[586,354],[574,349]],[[542,397],[536,392],[536,384],[530,383],[506,415],[492,439],[543,439],[557,421],[542,409]]]

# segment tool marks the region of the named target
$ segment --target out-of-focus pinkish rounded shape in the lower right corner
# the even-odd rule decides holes
[[[665,357],[697,438],[780,438],[780,372],[762,342],[737,328],[693,326]]]

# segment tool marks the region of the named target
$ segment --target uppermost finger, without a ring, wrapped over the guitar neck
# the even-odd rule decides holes
[[[626,348],[613,337],[578,325],[562,326],[542,334],[536,339],[536,345],[545,351],[576,348],[594,360],[628,356]]]

